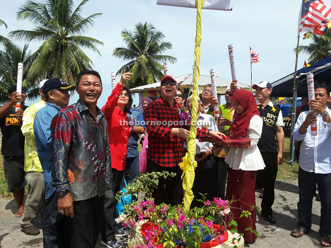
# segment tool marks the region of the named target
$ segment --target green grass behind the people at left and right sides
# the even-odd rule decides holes
[[[141,145],[138,146],[139,152]],[[278,166],[277,180],[297,180],[299,164],[294,162],[293,166],[289,164],[290,153],[289,153],[289,138],[285,138],[284,141],[284,162]],[[12,193],[8,192],[8,185],[4,172],[4,157],[0,155],[0,196],[10,196]],[[26,190],[27,191],[27,190]]]

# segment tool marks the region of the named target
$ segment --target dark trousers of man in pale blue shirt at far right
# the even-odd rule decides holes
[[[320,197],[320,236],[331,237],[331,173],[321,174],[308,172],[299,167],[299,202],[298,226],[310,231],[311,206],[316,190],[316,183]]]

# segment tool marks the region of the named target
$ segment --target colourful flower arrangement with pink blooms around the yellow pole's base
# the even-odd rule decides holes
[[[142,188],[142,185],[157,185],[159,177],[172,176],[169,172],[155,172],[140,174],[136,185],[137,188]],[[134,183],[133,183],[134,184]],[[134,185],[128,184],[126,190],[128,193],[133,193],[136,190]],[[149,188],[150,189],[150,188]],[[125,195],[119,192],[117,197]],[[203,196],[202,207],[194,207],[188,212],[184,211],[183,206],[180,205],[155,205],[151,195],[151,191],[144,192],[145,199],[141,202],[131,202],[124,206],[124,213],[120,214],[116,222],[122,222],[122,225],[127,228],[134,229],[139,226],[139,231],[145,238],[144,243],[134,246],[135,248],[169,248],[181,247],[187,248],[201,247],[204,242],[213,242],[214,246],[223,244],[228,239],[233,243],[233,247],[242,239],[243,234],[237,234],[230,237],[227,227],[232,227],[229,230],[232,234],[238,233],[237,223],[234,219],[226,224],[223,217],[231,213],[231,202],[222,200],[221,198],[214,198],[213,201],[206,200]],[[146,197],[147,196],[147,197]],[[254,206],[255,207],[255,206]],[[250,217],[249,212],[244,212],[241,217]],[[131,230],[132,230],[131,229]],[[254,230],[257,235],[258,233]],[[236,241],[237,240],[237,241]],[[241,240],[243,244],[243,239]],[[211,246],[209,246],[211,247]]]

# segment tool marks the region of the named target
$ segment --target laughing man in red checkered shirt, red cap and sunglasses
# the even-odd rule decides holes
[[[146,107],[144,112],[148,133],[146,172],[174,172],[176,177],[160,179],[153,192],[155,204],[161,202],[176,205],[182,203],[184,140],[189,136],[190,120],[183,114],[183,106],[175,101],[177,81],[172,76],[161,79],[161,97]],[[197,136],[207,134],[219,137],[220,132],[197,128]]]

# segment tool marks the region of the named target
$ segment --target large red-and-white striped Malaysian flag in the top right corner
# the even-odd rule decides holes
[[[302,0],[299,14],[298,34],[313,30],[319,37],[331,19],[331,8],[321,0]]]

